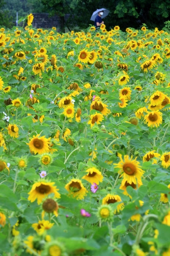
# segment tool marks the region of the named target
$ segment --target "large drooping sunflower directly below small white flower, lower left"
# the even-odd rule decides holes
[[[42,200],[53,193],[55,198],[60,198],[59,189],[54,186],[55,182],[46,182],[39,181],[33,184],[30,192],[28,193],[30,196],[28,200],[33,203],[37,199],[37,204],[40,204]]]

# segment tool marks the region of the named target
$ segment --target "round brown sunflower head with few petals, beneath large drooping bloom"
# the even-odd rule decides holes
[[[42,218],[44,218],[45,212],[49,213],[53,213],[56,217],[58,217],[58,203],[55,202],[55,200],[53,200],[52,198],[47,198],[43,205],[43,212],[42,212]]]

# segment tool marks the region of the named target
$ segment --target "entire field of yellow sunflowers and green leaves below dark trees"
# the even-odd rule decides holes
[[[21,21],[0,28],[0,256],[170,256],[170,34]]]

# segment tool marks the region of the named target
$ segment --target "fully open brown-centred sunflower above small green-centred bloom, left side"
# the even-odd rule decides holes
[[[30,151],[34,154],[44,154],[49,151],[49,139],[46,139],[45,136],[41,136],[37,134],[34,135],[29,143],[26,143],[30,147]]]

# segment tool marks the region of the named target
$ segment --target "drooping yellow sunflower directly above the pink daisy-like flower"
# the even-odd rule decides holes
[[[87,174],[83,176],[82,179],[89,181],[91,184],[96,183],[98,185],[99,182],[103,181],[103,176],[101,172],[95,167],[89,168],[85,172]]]

